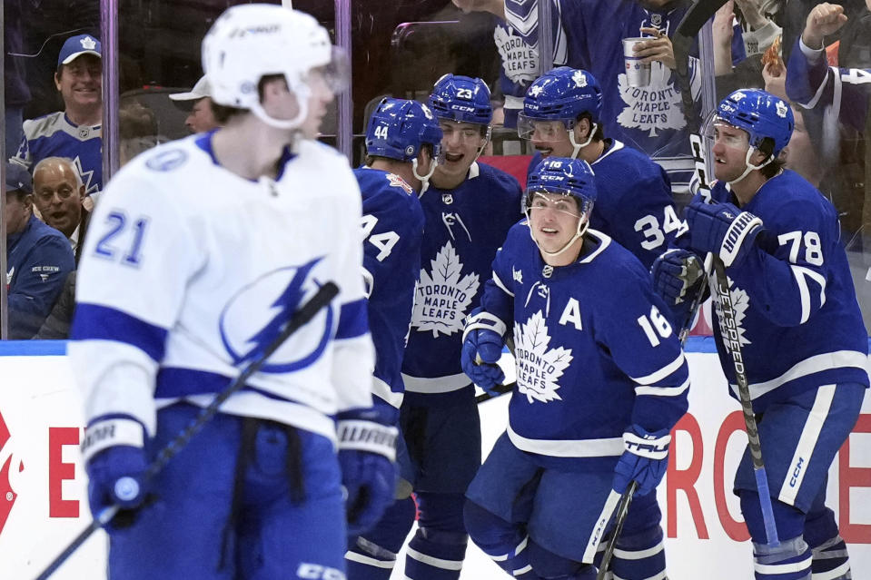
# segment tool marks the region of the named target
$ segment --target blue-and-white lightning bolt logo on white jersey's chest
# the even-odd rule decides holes
[[[234,365],[261,358],[293,313],[322,286],[312,275],[320,261],[315,258],[302,266],[272,270],[227,302],[221,313],[221,339]],[[320,359],[332,334],[333,318],[332,306],[322,309],[272,354],[260,372],[291,372]]]

